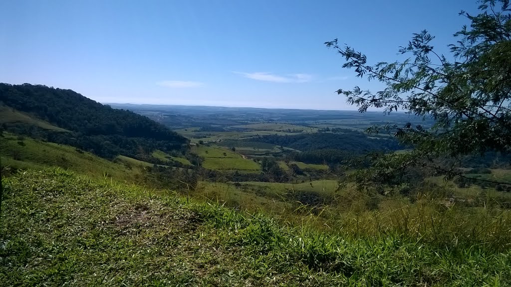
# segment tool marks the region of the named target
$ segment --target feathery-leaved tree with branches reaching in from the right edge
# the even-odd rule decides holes
[[[450,55],[439,55],[434,37],[426,30],[413,34],[401,54],[404,61],[368,64],[367,58],[337,39],[326,42],[353,68],[357,77],[385,85],[373,92],[354,87],[337,90],[360,112],[383,108],[402,109],[410,114],[432,117],[435,125],[375,126],[370,132],[392,132],[410,153],[374,155],[372,167],[356,174],[359,181],[385,182],[410,165],[429,166],[452,179],[455,166],[440,166],[435,158],[511,151],[511,16],[509,0],[484,0],[480,14],[459,14],[471,21],[454,34]]]

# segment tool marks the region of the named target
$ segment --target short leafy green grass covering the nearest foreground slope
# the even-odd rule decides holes
[[[5,186],[5,286],[511,284],[509,251],[338,237],[59,170]]]

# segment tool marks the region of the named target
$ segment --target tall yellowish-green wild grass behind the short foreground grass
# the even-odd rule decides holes
[[[289,191],[292,194],[294,190]],[[352,186],[331,202],[308,206],[284,196],[257,197],[228,183],[200,185],[191,195],[247,212],[262,212],[284,224],[330,232],[357,240],[389,236],[415,244],[445,248],[511,248],[511,210],[484,194],[451,198],[449,189],[425,185],[410,197],[370,195]],[[248,202],[248,203],[247,203]]]

